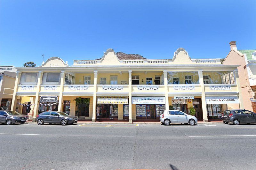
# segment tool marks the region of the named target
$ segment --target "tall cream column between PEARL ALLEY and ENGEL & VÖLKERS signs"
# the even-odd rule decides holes
[[[206,100],[205,100],[205,93],[204,93],[204,78],[203,78],[203,70],[198,70],[199,75],[199,84],[201,87],[202,92],[202,111],[203,111],[203,121],[208,122],[207,117],[207,108],[206,108]]]

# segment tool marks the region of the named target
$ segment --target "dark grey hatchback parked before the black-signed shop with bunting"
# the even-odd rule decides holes
[[[37,115],[36,122],[38,125],[43,125],[44,123],[67,125],[76,123],[77,117],[69,116],[65,112],[43,112]]]

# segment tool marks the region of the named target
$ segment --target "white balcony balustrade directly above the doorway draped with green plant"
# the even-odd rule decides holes
[[[93,85],[63,85],[63,95],[92,96]]]

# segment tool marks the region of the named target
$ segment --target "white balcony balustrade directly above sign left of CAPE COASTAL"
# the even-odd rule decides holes
[[[98,96],[128,96],[129,85],[97,85]]]

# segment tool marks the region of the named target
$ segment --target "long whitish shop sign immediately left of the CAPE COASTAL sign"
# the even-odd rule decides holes
[[[99,96],[98,104],[128,104],[128,97],[105,97]]]

